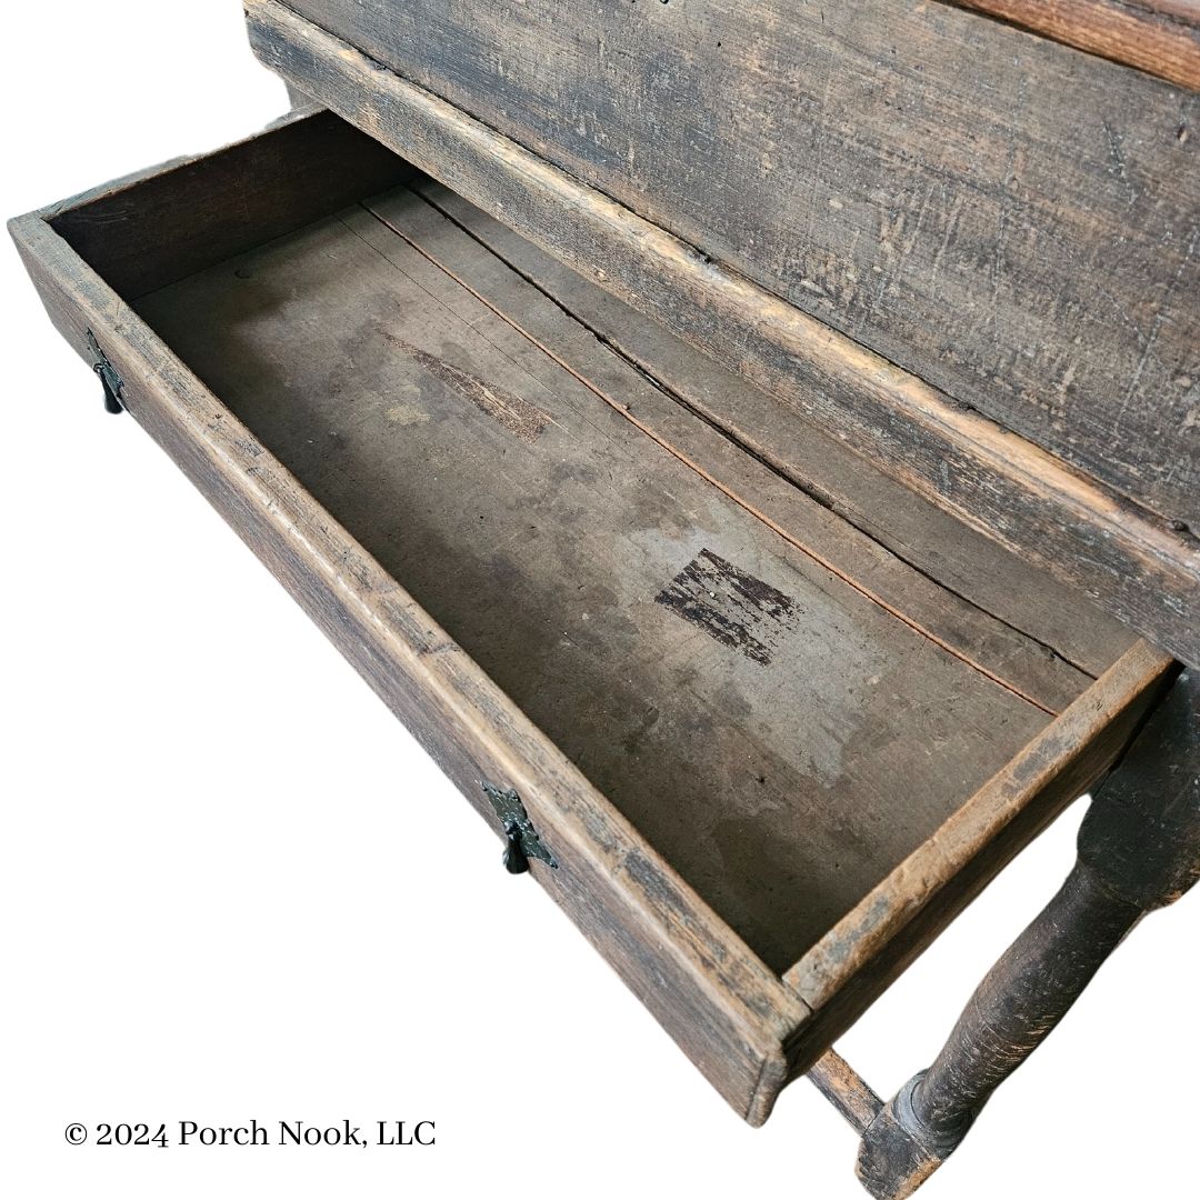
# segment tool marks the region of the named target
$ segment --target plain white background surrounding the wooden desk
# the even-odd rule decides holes
[[[0,210],[277,116],[241,20],[198,0],[8,6]],[[505,875],[250,551],[103,413],[4,254],[5,1194],[858,1198],[856,1139],[806,1081],[744,1126]],[[844,1038],[877,1090],[936,1052],[1066,874],[1080,816]],[[1198,935],[1194,896],[1146,922],[923,1196],[1194,1195]],[[433,1120],[437,1145],[64,1139],[73,1121],[343,1117]]]

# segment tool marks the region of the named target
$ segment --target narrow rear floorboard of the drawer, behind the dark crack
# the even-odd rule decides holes
[[[1094,678],[1136,641],[1129,629],[1044,570],[884,475],[818,425],[718,366],[661,325],[646,320],[612,293],[551,258],[461,196],[427,176],[419,176],[408,187],[523,280],[553,298],[556,308],[569,313],[576,328],[582,326],[580,334],[592,335],[576,338],[593,346],[590,350],[576,350],[572,362],[578,364],[583,354],[596,364],[619,354],[647,377],[642,392],[650,402],[654,391],[676,397],[748,451],[743,455],[746,469],[750,464],[769,464],[814,503],[827,506],[896,559],[936,581],[943,593],[961,596],[1027,635],[1048,652],[1048,658],[1061,658]],[[379,211],[374,203],[371,206]],[[505,272],[503,278],[512,276]],[[528,296],[514,295],[510,316],[539,311]],[[908,611],[913,611],[908,602]],[[1028,688],[1028,683],[1022,686]]]

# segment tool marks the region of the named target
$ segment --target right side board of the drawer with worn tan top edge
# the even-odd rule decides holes
[[[815,1012],[790,1048],[797,1074],[1022,846],[1103,778],[1176,671],[1168,655],[1135,646],[786,972]]]

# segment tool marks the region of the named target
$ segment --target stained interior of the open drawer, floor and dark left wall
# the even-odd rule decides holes
[[[52,224],[779,974],[1133,643],[336,119],[287,139]]]

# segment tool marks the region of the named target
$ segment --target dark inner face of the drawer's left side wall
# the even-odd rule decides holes
[[[299,229],[412,168],[332,113],[310,112],[216,154],[119,180],[48,210],[50,224],[127,298]],[[287,180],[287,187],[280,180]]]

